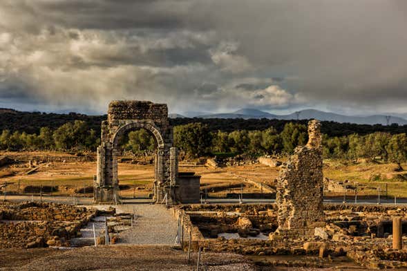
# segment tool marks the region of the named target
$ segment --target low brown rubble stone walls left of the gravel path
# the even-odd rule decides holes
[[[97,215],[95,209],[55,203],[1,203],[0,248],[69,246]]]

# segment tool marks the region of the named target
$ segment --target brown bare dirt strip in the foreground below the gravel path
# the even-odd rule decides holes
[[[101,245],[73,250],[32,249],[0,250],[0,270],[194,270],[197,253],[170,246]],[[207,270],[257,270],[244,256],[202,252]],[[201,265],[201,266],[202,266]],[[201,269],[203,270],[203,268]]]

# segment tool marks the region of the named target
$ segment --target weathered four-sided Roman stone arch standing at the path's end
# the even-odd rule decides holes
[[[177,149],[173,147],[167,104],[113,101],[108,106],[108,120],[102,122],[102,140],[97,148],[95,203],[111,203],[119,198],[117,147],[120,138],[135,129],[149,131],[157,146],[153,198],[160,202],[167,194],[168,200],[175,200],[178,158]]]

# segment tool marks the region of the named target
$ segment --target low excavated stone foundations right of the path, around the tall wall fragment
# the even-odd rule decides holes
[[[325,226],[310,237],[274,240],[278,207],[185,205],[179,207],[195,247],[249,256],[258,265],[329,268],[406,268],[405,250],[392,249],[392,219],[407,219],[407,207],[324,205]],[[407,223],[402,223],[403,241]],[[189,239],[185,234],[184,239]],[[188,242],[187,242],[188,243]]]

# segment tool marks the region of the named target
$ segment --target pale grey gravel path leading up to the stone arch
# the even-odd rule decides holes
[[[173,245],[176,241],[178,221],[163,205],[126,204],[117,212],[137,215],[133,227],[119,234],[118,243]]]

